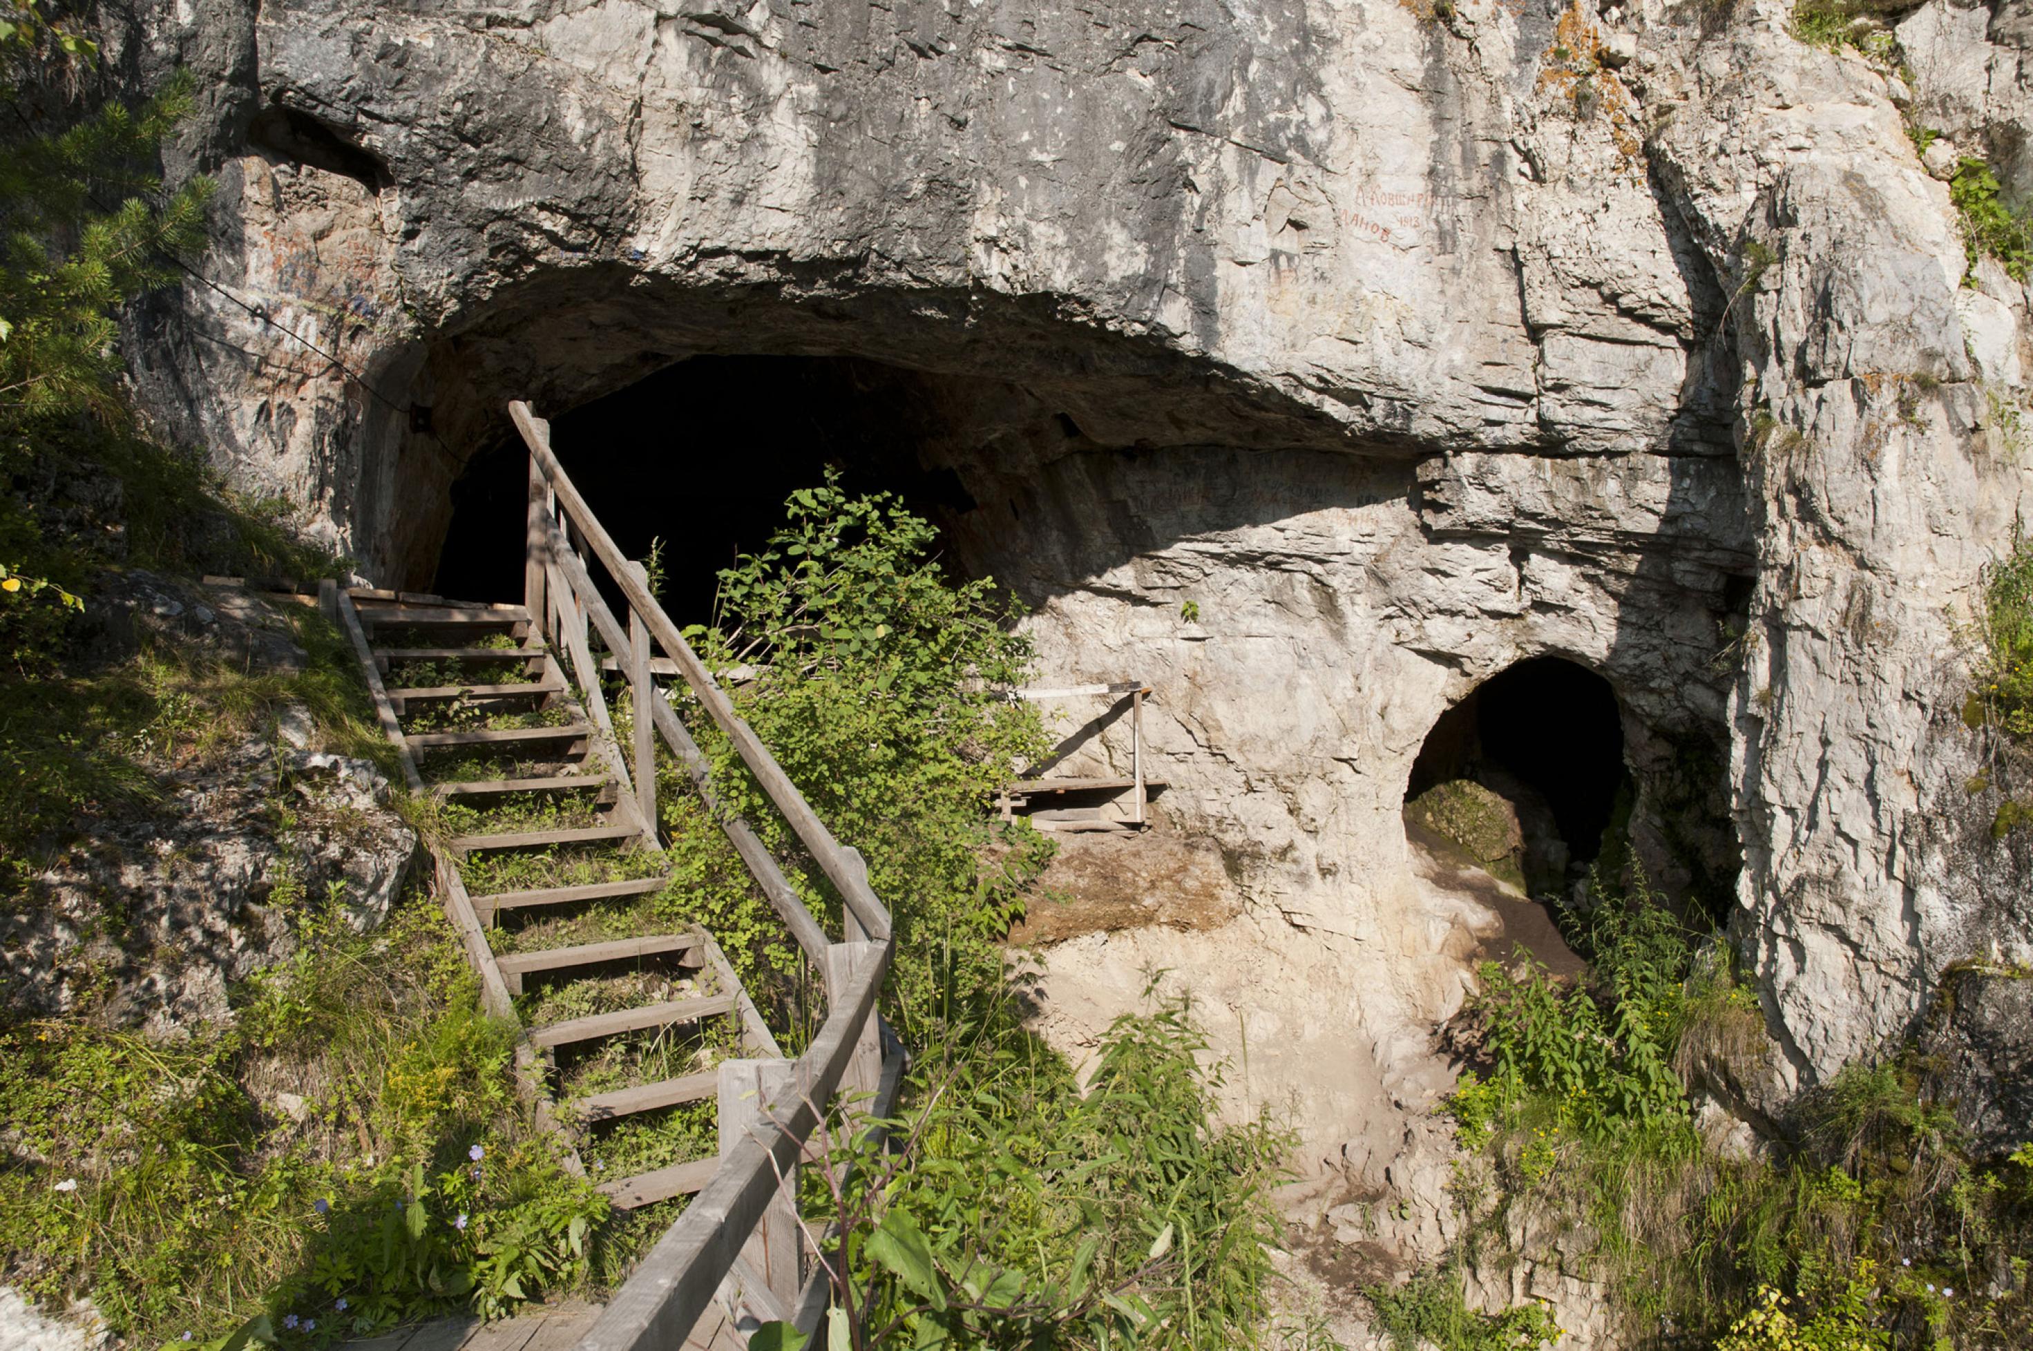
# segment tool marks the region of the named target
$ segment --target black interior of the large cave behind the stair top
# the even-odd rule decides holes
[[[935,390],[858,358],[697,356],[551,416],[551,445],[630,559],[663,540],[661,601],[679,624],[714,614],[718,571],[783,524],[791,492],[838,469],[850,494],[892,492],[943,524],[974,508],[951,469],[921,467]],[[498,443],[451,486],[431,589],[522,593],[529,451]]]

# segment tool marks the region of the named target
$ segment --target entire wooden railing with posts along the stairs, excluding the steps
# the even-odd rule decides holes
[[[827,995],[825,1020],[795,1063],[728,1063],[720,1093],[718,1168],[614,1294],[579,1341],[579,1351],[667,1351],[687,1343],[710,1347],[716,1341],[728,1345],[734,1306],[750,1318],[791,1318],[813,1333],[825,1312],[823,1270],[813,1264],[813,1272],[803,1276],[801,1262],[785,1260],[779,1178],[791,1176],[836,1095],[874,1095],[876,1113],[888,1109],[903,1067],[903,1048],[884,1046],[876,1014],[876,991],[892,959],[890,914],[868,886],[860,853],[825,829],[657,603],[642,567],[602,528],[551,451],[549,423],[520,400],[508,404],[508,414],[529,447],[522,603],[531,620],[569,656],[583,703],[610,735],[602,672],[618,672],[626,681],[634,727],[630,746],[616,748],[612,760],[632,772],[634,807],[646,821],[657,821],[653,737],[663,737],[714,809],[785,928],[825,975]],[[616,614],[596,585],[596,567],[622,597],[624,614]],[[610,660],[596,660],[590,642],[594,634]],[[842,941],[825,935],[754,829],[726,813],[712,794],[705,756],[655,683],[657,674],[671,670],[728,735],[771,807],[840,892],[846,926]],[[746,1113],[734,1109],[740,1095],[730,1085],[736,1081],[748,1085]],[[766,1101],[756,1101],[758,1097]],[[736,1115],[730,1117],[730,1111]],[[754,1260],[744,1260],[744,1249]]]

